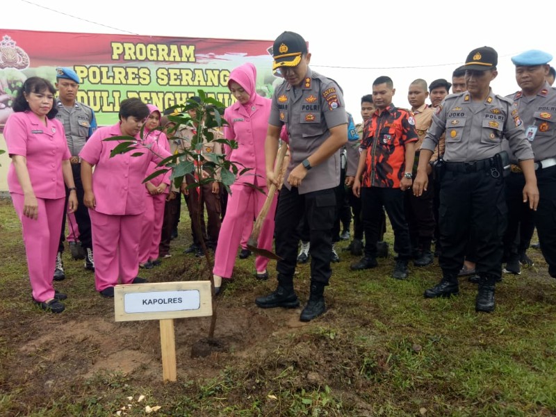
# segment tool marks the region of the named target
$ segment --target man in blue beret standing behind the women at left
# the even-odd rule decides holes
[[[56,68],[56,88],[58,89],[58,99],[56,99],[56,108],[58,114],[56,118],[64,125],[65,138],[67,146],[70,148],[72,157],[70,163],[72,164],[72,172],[74,174],[74,181],[77,193],[77,201],[79,202],[77,210],[75,211],[76,226],[79,229],[79,240],[81,247],[86,251],[85,254],[85,269],[95,270],[95,261],[92,257],[92,238],[91,238],[91,220],[89,218],[89,211],[87,206],[83,204],[83,184],[81,183],[81,158],[79,152],[83,149],[85,141],[90,138],[92,132],[97,127],[97,120],[95,112],[92,108],[76,100],[77,92],[80,83],[79,76],[74,70],[67,67]],[[73,190],[67,190],[67,194]],[[58,247],[58,254],[56,255],[56,270],[54,272],[54,279],[60,281],[65,278],[62,252],[64,250],[64,235],[65,235],[65,218],[62,222],[62,232],[60,235],[60,245]]]

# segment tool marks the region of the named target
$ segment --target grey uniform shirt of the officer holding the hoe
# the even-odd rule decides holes
[[[269,123],[286,125],[290,136],[291,158],[284,175],[284,186],[297,165],[330,136],[329,128],[347,124],[343,94],[338,84],[308,69],[300,88],[282,83],[272,96]],[[347,128],[346,128],[347,129]],[[334,188],[340,183],[340,151],[307,172],[298,187],[300,194]]]

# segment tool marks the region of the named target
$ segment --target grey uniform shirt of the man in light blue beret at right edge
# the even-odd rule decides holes
[[[507,98],[517,105],[534,160],[556,157],[556,88],[545,81],[542,90],[533,97],[525,97],[518,91]]]

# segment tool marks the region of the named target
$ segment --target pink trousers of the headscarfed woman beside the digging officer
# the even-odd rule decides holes
[[[250,212],[259,215],[266,199],[266,194],[240,183],[233,184],[230,189],[231,195],[228,197],[226,215],[224,215],[224,221],[220,228],[213,268],[213,274],[223,278],[231,278],[242,234],[245,228],[252,229],[253,227],[252,214],[246,215],[246,213]],[[266,187],[263,190],[267,193]],[[272,200],[268,215],[263,222],[263,227],[261,227],[261,234],[259,235],[258,247],[262,247],[265,250],[272,250],[276,203],[277,195]],[[248,219],[251,219],[251,221],[249,222]],[[256,256],[256,270],[263,271],[266,269],[266,265],[268,265],[268,258]]]

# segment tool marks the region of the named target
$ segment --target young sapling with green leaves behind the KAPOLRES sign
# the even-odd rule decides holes
[[[194,116],[190,115],[188,111],[194,110],[195,112],[190,112]],[[214,294],[214,280],[212,275],[213,260],[209,252],[206,250],[206,243],[203,238],[202,231],[200,230],[201,219],[200,216],[203,215],[202,210],[202,186],[207,183],[213,183],[214,181],[220,181],[222,185],[226,188],[228,193],[231,193],[230,186],[238,175],[243,175],[245,172],[252,170],[252,168],[244,167],[239,163],[234,163],[226,159],[224,153],[218,154],[214,152],[203,152],[203,147],[207,144],[220,143],[222,145],[227,145],[230,149],[237,149],[238,144],[236,140],[227,140],[225,138],[218,138],[215,134],[215,129],[220,129],[224,124],[227,124],[226,120],[222,117],[224,114],[224,104],[220,101],[207,97],[204,90],[198,90],[198,101],[195,99],[188,99],[185,104],[179,104],[165,109],[165,114],[167,114],[168,120],[174,124],[173,127],[167,129],[166,133],[169,140],[181,141],[179,135],[174,136],[174,133],[179,132],[180,126],[191,126],[195,127],[193,138],[191,138],[189,147],[178,147],[179,151],[172,156],[168,156],[158,163],[160,169],[156,170],[150,174],[147,178],[143,180],[143,183],[157,177],[158,175],[165,174],[168,170],[172,170],[171,179],[176,188],[181,188],[182,183],[187,183],[187,190],[191,192],[199,193],[199,218],[194,226],[196,227],[196,234],[199,236],[201,241],[202,249],[205,254],[206,263],[208,270],[210,272],[208,279],[211,281],[211,291],[213,294],[213,316],[211,320],[211,327],[208,332],[208,338],[212,339],[214,336],[214,329],[216,323],[216,310],[217,303],[215,302]],[[145,126],[143,125],[140,131],[140,137],[144,136]],[[163,131],[165,128],[160,126],[156,128],[158,131]],[[126,152],[133,152],[133,150],[139,147],[151,148],[149,144],[138,143],[135,138],[131,136],[115,136],[113,138],[108,138],[105,140],[120,140],[119,145],[117,145],[111,152],[111,157],[118,154],[124,154]],[[152,151],[154,152],[154,151]],[[131,156],[140,156],[140,152],[131,154]],[[204,170],[204,167],[211,166],[211,170]],[[217,173],[220,179],[217,177]],[[189,176],[189,180],[186,181],[186,176]],[[183,189],[182,188],[182,189]],[[262,192],[262,190],[261,190]]]

